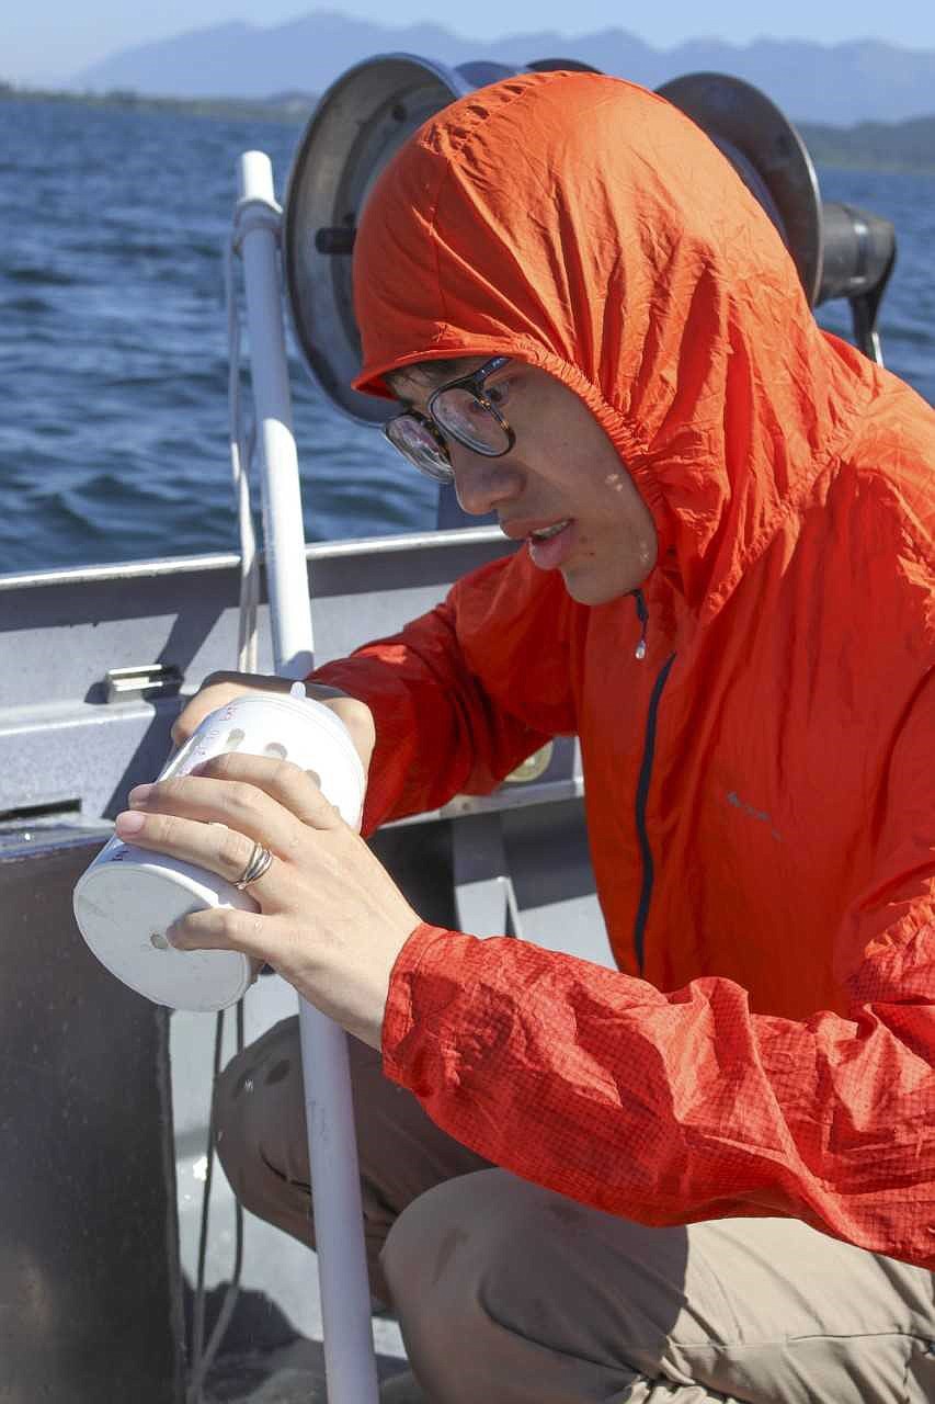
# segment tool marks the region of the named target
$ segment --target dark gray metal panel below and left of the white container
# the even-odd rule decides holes
[[[0,1400],[183,1398],[166,1011],[87,952],[101,835],[0,854]]]

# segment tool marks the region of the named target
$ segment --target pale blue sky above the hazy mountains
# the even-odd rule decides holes
[[[761,35],[841,44],[848,39],[886,39],[910,49],[935,51],[935,4],[924,0],[782,0],[764,18],[764,7],[750,0],[664,0],[663,4],[611,4],[609,0],[511,0],[503,6],[431,4],[428,0],[338,0],[329,6],[295,0],[161,0],[159,10],[126,0],[29,0],[4,4],[0,18],[0,79],[14,83],[53,83],[117,49],[168,38],[229,20],[272,27],[316,8],[340,10],[386,24],[432,20],[469,38],[496,39],[517,31],[553,29],[588,34],[621,28],[656,48],[684,39],[720,38],[748,44]],[[15,11],[15,13],[14,13]],[[570,11],[574,20],[570,20]]]

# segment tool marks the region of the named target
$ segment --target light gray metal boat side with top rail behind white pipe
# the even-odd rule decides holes
[[[350,653],[431,608],[446,585],[512,549],[496,529],[310,546],[316,657]],[[272,671],[265,581],[260,671]],[[0,576],[0,817],[48,809],[114,817],[160,769],[178,696],[108,702],[108,673],[173,667],[183,696],[230,668],[236,556]],[[14,664],[14,665],[11,665]],[[25,817],[29,817],[28,814]]]

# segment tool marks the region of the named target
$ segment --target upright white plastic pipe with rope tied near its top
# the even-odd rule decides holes
[[[313,665],[312,607],[282,327],[281,212],[264,152],[244,152],[237,185],[274,664],[282,677],[302,678]],[[305,1000],[299,1025],[329,1404],[376,1404],[347,1038]]]

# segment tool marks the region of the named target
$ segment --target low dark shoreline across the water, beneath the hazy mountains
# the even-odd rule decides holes
[[[265,100],[173,98],[147,97],[122,90],[72,93],[55,88],[20,88],[8,83],[0,83],[0,98],[21,102],[73,102],[81,107],[168,112],[226,121],[274,122],[284,126],[303,125],[317,102],[317,97],[307,93]],[[818,166],[904,171],[915,176],[935,174],[935,115],[903,122],[858,122],[854,126],[828,126],[817,122],[795,125]]]

